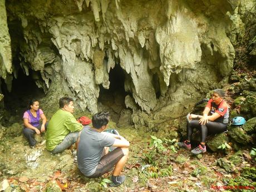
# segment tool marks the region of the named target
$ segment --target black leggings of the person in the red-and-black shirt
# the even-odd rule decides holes
[[[218,134],[227,130],[228,125],[221,122],[208,121],[207,124],[199,124],[199,120],[192,120],[186,124],[186,139],[191,140],[193,129],[196,128],[201,132],[201,142],[205,142],[205,139],[209,134]]]

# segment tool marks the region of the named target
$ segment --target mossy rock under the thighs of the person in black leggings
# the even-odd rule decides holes
[[[218,151],[218,146],[221,144],[224,144],[225,142],[229,142],[227,134],[224,132],[221,132],[220,134],[216,134],[213,137],[210,137],[210,139],[207,142],[207,146],[210,148],[212,151]]]

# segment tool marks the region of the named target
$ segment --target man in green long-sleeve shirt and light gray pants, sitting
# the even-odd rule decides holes
[[[72,115],[73,99],[62,97],[59,105],[60,109],[52,116],[46,131],[46,149],[53,154],[64,151],[74,143],[77,145],[83,129]]]

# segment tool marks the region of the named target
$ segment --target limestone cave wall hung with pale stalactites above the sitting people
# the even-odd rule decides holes
[[[109,72],[120,65],[126,106],[136,103],[157,118],[179,116],[232,70],[227,32],[237,6],[222,0],[6,0],[13,74],[22,67],[49,100],[71,95],[81,109],[96,112],[99,85],[109,88]]]

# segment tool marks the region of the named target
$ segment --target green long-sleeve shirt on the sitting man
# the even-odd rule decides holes
[[[81,131],[82,124],[78,123],[71,112],[58,110],[48,123],[46,131],[46,149],[52,151],[70,132]]]

